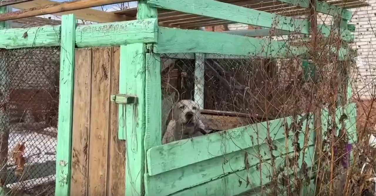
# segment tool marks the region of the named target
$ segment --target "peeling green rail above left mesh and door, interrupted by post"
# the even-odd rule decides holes
[[[76,28],[76,47],[156,43],[157,19],[85,24]],[[59,46],[61,25],[0,30],[0,48]]]

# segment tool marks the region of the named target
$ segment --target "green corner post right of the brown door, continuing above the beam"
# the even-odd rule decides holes
[[[156,17],[155,8],[138,2],[138,20]],[[146,151],[161,145],[161,65],[159,54],[146,54],[150,48],[143,43],[120,46],[119,93],[138,100],[119,105],[119,139],[127,141],[126,196],[145,194]]]

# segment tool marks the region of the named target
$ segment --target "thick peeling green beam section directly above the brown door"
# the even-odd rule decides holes
[[[77,47],[120,46],[132,43],[155,43],[156,18],[77,26]]]

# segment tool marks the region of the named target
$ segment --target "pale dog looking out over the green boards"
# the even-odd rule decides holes
[[[205,135],[205,125],[200,120],[200,115],[199,104],[192,100],[180,100],[175,103],[172,119],[168,122],[162,144]]]

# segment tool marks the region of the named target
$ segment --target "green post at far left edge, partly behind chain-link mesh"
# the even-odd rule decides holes
[[[10,6],[3,6],[0,7],[0,14],[10,12],[11,7]],[[10,21],[1,21],[0,22],[0,30],[2,29],[9,29],[10,26]],[[7,69],[7,64],[6,64],[6,59],[2,58],[0,56],[0,94],[1,94],[1,100],[3,103],[7,104],[9,100],[9,75],[8,75],[8,69]],[[1,130],[1,154],[0,154],[0,166],[1,170],[0,172],[2,175],[0,175],[0,178],[2,181],[5,181],[8,173],[6,167],[4,167],[7,162],[8,162],[8,138],[9,138],[9,116],[7,112],[7,107],[2,107],[0,109],[0,130]],[[4,195],[5,190],[1,190],[0,195]]]

